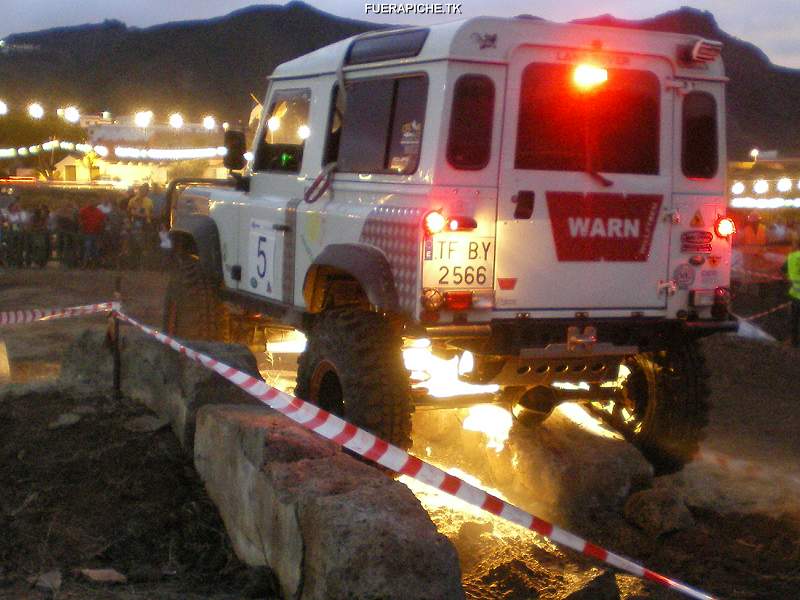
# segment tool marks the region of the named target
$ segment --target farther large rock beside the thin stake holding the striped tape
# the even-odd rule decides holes
[[[254,376],[258,367],[244,346],[187,342],[199,352]],[[181,445],[192,452],[197,410],[209,403],[259,404],[215,372],[178,354],[152,337],[123,329],[120,340],[122,393],[169,420]],[[113,358],[103,332],[87,330],[64,356],[61,379],[111,391]]]

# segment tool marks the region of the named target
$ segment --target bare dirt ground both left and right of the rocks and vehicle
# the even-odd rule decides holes
[[[7,271],[0,275],[0,310],[107,300],[114,277]],[[159,325],[165,283],[158,273],[124,274],[126,310]],[[735,309],[747,316],[779,303],[781,293],[740,292]],[[784,318],[756,323],[782,339]],[[87,326],[105,323],[91,317],[4,329],[12,380],[54,377],[61,354]],[[575,533],[720,598],[800,597],[800,410],[788,385],[800,354],[723,336],[705,349],[715,407],[703,449],[746,461],[739,469],[745,472],[697,462],[666,482],[691,500],[695,525],[689,529],[654,538],[614,513],[594,515],[594,525]],[[77,406],[89,407],[77,424],[48,429]],[[27,578],[52,568],[64,576],[61,598],[270,597],[269,578],[233,557],[172,434],[124,429],[142,412],[109,397],[59,394],[0,406],[0,531],[8,532],[0,535],[0,598],[41,598]],[[431,514],[442,529],[451,525],[445,533],[459,549],[469,598],[561,599],[603,572],[602,565],[496,520],[454,516],[450,507]],[[107,588],[72,574],[87,566],[116,568],[130,583]],[[616,583],[625,599],[677,597],[620,574]],[[603,596],[584,596],[593,597]]]

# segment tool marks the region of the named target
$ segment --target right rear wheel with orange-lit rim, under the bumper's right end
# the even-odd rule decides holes
[[[697,342],[637,354],[624,367],[621,399],[598,414],[641,450],[656,474],[679,471],[708,424],[708,371]]]

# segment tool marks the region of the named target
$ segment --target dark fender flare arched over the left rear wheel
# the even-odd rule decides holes
[[[308,300],[312,274],[319,267],[331,267],[351,275],[367,295],[369,303],[379,310],[397,312],[400,301],[394,275],[384,253],[365,244],[330,244],[314,259],[303,282],[303,295]]]

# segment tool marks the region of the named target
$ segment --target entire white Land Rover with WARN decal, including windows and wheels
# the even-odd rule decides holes
[[[279,66],[252,158],[170,186],[166,330],[302,332],[296,394],[402,447],[416,406],[570,400],[680,468],[736,328],[720,48],[476,18]]]

